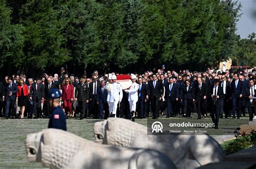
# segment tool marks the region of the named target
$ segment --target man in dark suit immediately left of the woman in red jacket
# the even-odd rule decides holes
[[[11,78],[8,78],[8,85],[5,87],[5,97],[6,100],[6,109],[5,109],[5,119],[9,117],[9,109],[11,107],[11,118],[16,117],[15,113],[15,101],[16,101],[16,93],[18,92],[17,85],[12,82]]]

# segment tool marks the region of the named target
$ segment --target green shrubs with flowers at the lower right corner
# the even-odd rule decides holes
[[[251,134],[240,132],[240,128],[234,131],[235,139],[225,141],[221,146],[226,155],[238,152],[240,150],[249,148],[256,144],[256,131],[252,130]]]

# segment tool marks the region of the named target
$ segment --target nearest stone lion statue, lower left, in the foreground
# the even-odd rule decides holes
[[[58,129],[28,134],[25,145],[30,162],[50,168],[176,168],[155,150],[100,145]]]

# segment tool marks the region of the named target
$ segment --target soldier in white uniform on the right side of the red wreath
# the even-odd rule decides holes
[[[136,76],[132,75],[132,85],[129,89],[126,89],[125,92],[129,93],[128,101],[130,104],[130,112],[132,121],[135,119],[136,103],[138,102],[138,89],[139,84],[136,83]]]

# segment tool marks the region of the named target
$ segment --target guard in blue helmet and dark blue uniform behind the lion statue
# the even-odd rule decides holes
[[[59,106],[60,97],[62,94],[58,89],[52,89],[50,91],[50,106],[53,109],[50,116],[48,128],[60,129],[66,131],[66,117],[62,108]]]

